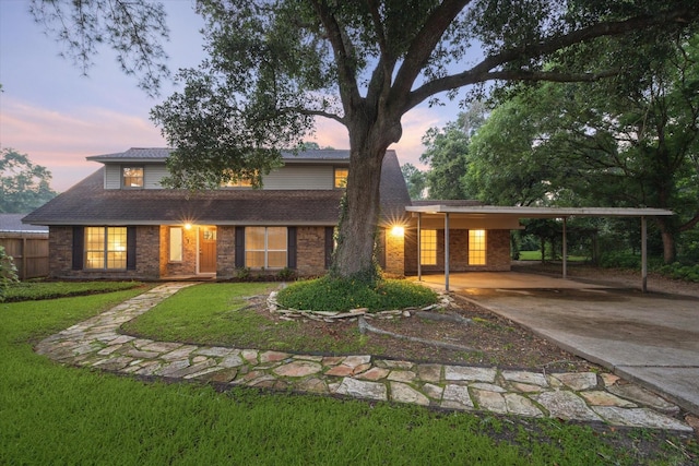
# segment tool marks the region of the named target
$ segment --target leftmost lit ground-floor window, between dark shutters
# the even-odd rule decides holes
[[[127,228],[86,227],[85,268],[126,268]]]

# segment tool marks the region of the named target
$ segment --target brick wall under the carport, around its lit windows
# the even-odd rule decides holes
[[[489,271],[510,270],[510,230],[487,230],[487,252],[485,265],[469,265],[469,230],[449,231],[449,271]],[[437,265],[423,265],[423,272],[445,271],[445,230],[437,230]],[[406,231],[405,273],[417,273],[417,231]]]

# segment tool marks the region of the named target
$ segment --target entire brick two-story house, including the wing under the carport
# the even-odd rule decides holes
[[[283,166],[263,177],[261,189],[238,183],[198,192],[161,184],[169,152],[87,157],[103,167],[23,219],[49,227],[51,277],[226,279],[240,270],[328,271],[350,151],[283,153]],[[443,215],[431,211],[479,204],[411,202],[394,151],[383,160],[380,195],[378,250],[386,272],[510,270],[516,217],[464,211],[447,228]]]

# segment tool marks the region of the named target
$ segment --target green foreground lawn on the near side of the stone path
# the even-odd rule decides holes
[[[672,446],[686,439],[660,431],[217,393],[62,367],[33,353],[33,342],[138,292],[0,303],[0,464],[691,464]]]

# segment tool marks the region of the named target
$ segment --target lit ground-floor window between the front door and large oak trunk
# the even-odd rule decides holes
[[[247,227],[245,229],[245,266],[284,268],[287,264],[286,247],[286,227]]]

